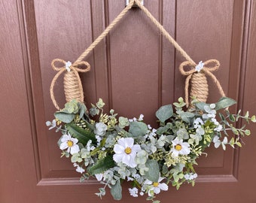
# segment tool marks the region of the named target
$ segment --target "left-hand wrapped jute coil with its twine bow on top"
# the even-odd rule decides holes
[[[64,66],[57,67],[56,63],[62,64]],[[90,71],[90,64],[84,61],[75,62],[74,64],[72,64],[71,62],[66,62],[62,59],[54,59],[51,62],[51,66],[54,71],[58,71],[58,73],[53,77],[53,80],[50,83],[50,98],[53,102],[53,105],[56,107],[56,109],[60,110],[59,106],[57,105],[56,99],[54,97],[53,88],[59,75],[62,74],[63,72],[65,72],[63,83],[64,83],[64,92],[66,96],[66,102],[70,102],[72,99],[77,99],[78,102],[84,102],[83,86],[82,86],[81,79],[79,77],[78,72],[85,73],[87,71]],[[86,66],[87,68],[85,69],[78,68],[80,66]]]

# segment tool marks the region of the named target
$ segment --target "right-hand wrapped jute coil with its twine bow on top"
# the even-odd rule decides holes
[[[190,66],[189,71],[184,71],[184,67]],[[220,66],[220,62],[215,59],[210,59],[206,62],[200,62],[198,65],[195,65],[194,63],[190,61],[182,62],[179,66],[179,70],[181,71],[181,74],[187,75],[186,81],[185,81],[185,102],[187,104],[187,107],[189,105],[189,93],[188,88],[190,84],[190,96],[194,96],[197,98],[200,102],[206,102],[208,95],[209,95],[209,89],[208,89],[208,83],[206,79],[206,75],[209,75],[209,77],[212,78],[214,83],[217,85],[219,92],[221,93],[221,96],[225,96],[225,93],[221,87],[221,84],[219,83],[218,79],[215,77],[214,74],[212,74],[212,71],[218,70]]]

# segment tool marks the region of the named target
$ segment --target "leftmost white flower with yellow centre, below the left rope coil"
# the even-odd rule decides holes
[[[61,138],[61,144],[59,145],[60,150],[67,149],[68,153],[74,154],[80,151],[78,146],[78,139],[72,138],[70,134],[63,135]]]

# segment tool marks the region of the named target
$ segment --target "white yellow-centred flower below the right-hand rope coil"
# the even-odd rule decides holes
[[[175,138],[175,140],[172,141],[172,157],[177,157],[179,154],[181,155],[187,155],[190,153],[190,145],[187,142],[183,142],[183,140],[179,140],[178,138]]]

